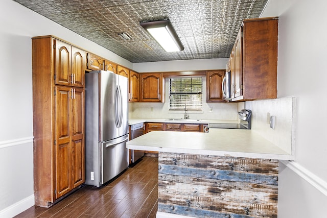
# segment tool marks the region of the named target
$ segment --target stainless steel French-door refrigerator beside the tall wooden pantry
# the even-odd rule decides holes
[[[128,79],[85,74],[85,184],[100,187],[128,167]]]

